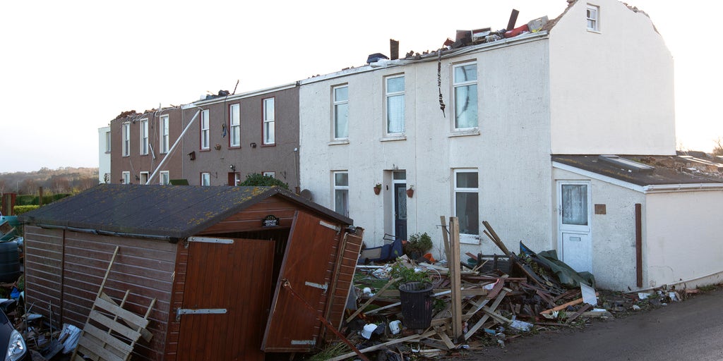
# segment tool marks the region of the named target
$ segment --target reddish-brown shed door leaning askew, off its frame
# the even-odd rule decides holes
[[[309,352],[320,336],[321,321],[328,300],[328,284],[333,269],[335,246],[341,225],[331,225],[317,217],[296,212],[288,235],[271,311],[266,324],[265,352]],[[302,300],[294,297],[283,280]]]

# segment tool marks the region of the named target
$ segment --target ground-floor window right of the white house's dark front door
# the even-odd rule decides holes
[[[459,219],[460,242],[479,240],[479,179],[476,169],[454,171],[454,209]]]

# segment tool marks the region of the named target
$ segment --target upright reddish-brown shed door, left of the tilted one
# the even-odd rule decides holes
[[[264,360],[273,251],[270,240],[189,242],[177,360]]]

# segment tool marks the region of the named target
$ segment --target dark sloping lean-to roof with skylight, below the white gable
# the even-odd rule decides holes
[[[723,183],[723,173],[690,168],[690,162],[677,156],[552,155],[552,162],[637,186]]]

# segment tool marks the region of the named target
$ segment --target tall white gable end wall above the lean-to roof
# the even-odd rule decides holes
[[[600,32],[586,29],[599,6]],[[553,154],[675,154],[673,60],[645,14],[577,1],[549,35]]]

